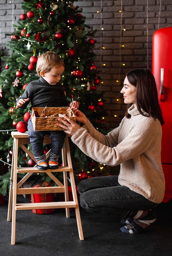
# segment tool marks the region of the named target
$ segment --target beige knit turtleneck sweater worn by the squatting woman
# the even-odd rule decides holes
[[[103,135],[89,120],[71,140],[97,162],[121,165],[119,184],[154,203],[164,197],[165,179],[161,165],[162,128],[158,119],[144,117],[132,105],[120,125]]]

